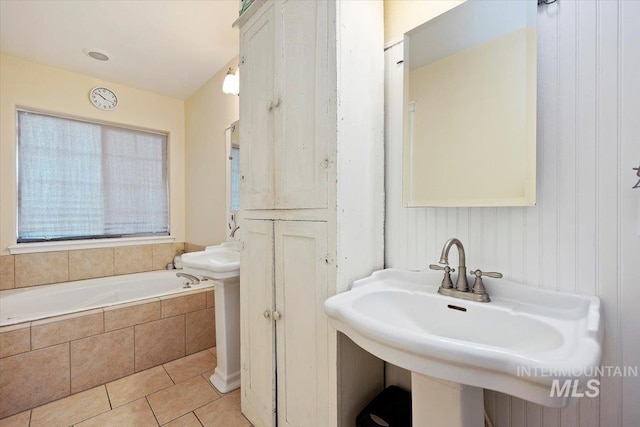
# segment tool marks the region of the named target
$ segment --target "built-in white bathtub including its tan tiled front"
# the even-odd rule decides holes
[[[176,270],[0,291],[0,418],[216,345],[214,282]]]

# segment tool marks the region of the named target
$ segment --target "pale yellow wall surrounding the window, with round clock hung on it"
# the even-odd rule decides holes
[[[108,86],[118,95],[114,111],[89,102],[89,91]],[[16,107],[168,132],[171,235],[185,241],[184,101],[117,83],[0,56],[0,253],[16,243]],[[224,157],[224,156],[223,156]],[[224,200],[224,193],[222,199]]]

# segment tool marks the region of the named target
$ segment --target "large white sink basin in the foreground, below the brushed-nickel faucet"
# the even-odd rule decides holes
[[[485,279],[491,302],[437,293],[440,272],[386,269],[325,301],[331,324],[356,344],[414,373],[551,407],[554,380],[584,390],[602,349],[600,300]]]

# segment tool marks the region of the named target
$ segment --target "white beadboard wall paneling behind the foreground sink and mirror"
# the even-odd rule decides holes
[[[530,208],[402,207],[402,44],[386,51],[387,267],[426,269],[445,240],[470,268],[597,295],[603,365],[640,365],[640,1],[559,0],[538,9],[538,200]],[[452,153],[451,166],[456,165]],[[482,165],[477,166],[482,173]],[[446,179],[446,178],[445,178]],[[393,372],[387,379],[401,378]],[[496,427],[640,425],[640,378],[545,408],[485,391]]]

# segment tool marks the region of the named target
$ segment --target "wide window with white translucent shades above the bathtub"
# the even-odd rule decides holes
[[[18,110],[18,243],[168,234],[167,135]]]

